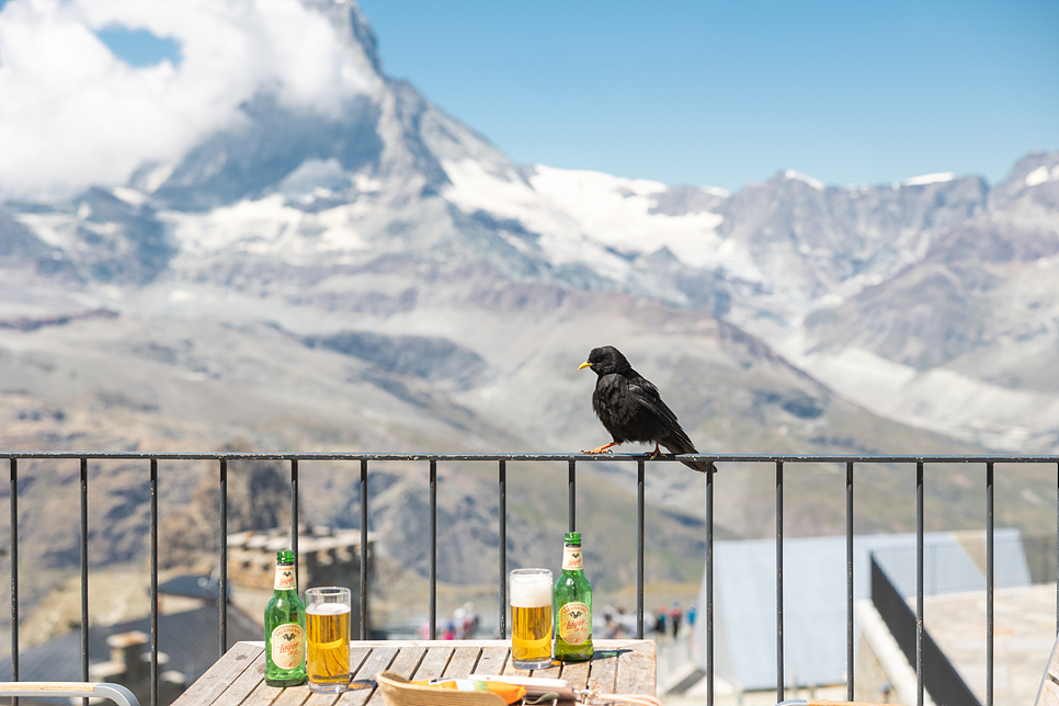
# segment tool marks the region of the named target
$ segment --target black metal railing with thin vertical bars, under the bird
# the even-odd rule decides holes
[[[499,480],[499,522],[500,522],[500,635],[506,637],[506,462],[566,462],[568,463],[568,524],[570,531],[576,531],[577,505],[576,485],[577,465],[579,463],[635,463],[637,466],[637,605],[636,605],[636,637],[644,637],[644,537],[645,537],[645,465],[646,463],[667,463],[676,460],[672,456],[659,456],[649,459],[647,455],[587,455],[587,454],[361,454],[361,453],[146,453],[146,452],[0,452],[0,458],[10,459],[11,468],[11,653],[12,679],[19,680],[19,561],[18,561],[18,481],[20,459],[77,459],[81,466],[81,635],[82,653],[81,668],[84,680],[88,681],[88,468],[90,460],[145,460],[150,463],[151,482],[151,706],[157,706],[158,690],[158,464],[174,460],[212,460],[219,467],[219,510],[218,526],[220,553],[220,596],[219,653],[228,649],[227,644],[227,465],[229,460],[284,460],[291,464],[292,493],[292,544],[297,557],[298,537],[298,471],[300,462],[346,462],[360,463],[361,470],[361,615],[360,638],[367,637],[367,527],[368,527],[368,485],[367,471],[371,464],[387,462],[422,462],[428,465],[430,478],[430,637],[437,635],[436,614],[436,581],[437,581],[437,464],[439,463],[494,463],[498,465]],[[713,466],[720,464],[773,464],[775,466],[775,503],[776,503],[776,699],[784,701],[784,653],[783,653],[783,499],[784,471],[786,465],[801,464],[845,464],[846,467],[846,616],[847,616],[847,697],[854,696],[854,623],[853,623],[853,504],[854,478],[857,464],[897,464],[914,465],[915,468],[915,534],[916,534],[916,610],[915,610],[915,671],[916,671],[916,704],[923,704],[923,527],[924,527],[924,468],[930,465],[975,464],[984,466],[986,488],[986,592],[987,592],[987,650],[986,650],[986,705],[992,706],[993,693],[993,470],[995,464],[1055,464],[1057,468],[1057,557],[1059,557],[1059,455],[1045,456],[798,456],[798,455],[710,455],[686,454],[681,456],[685,460],[705,460]],[[713,590],[713,538],[714,538],[714,476],[706,475],[706,701],[714,703],[714,590]],[[1057,559],[1059,566],[1059,559]],[[1059,574],[1057,574],[1059,587]],[[1059,630],[1059,588],[1056,595],[1056,620]]]

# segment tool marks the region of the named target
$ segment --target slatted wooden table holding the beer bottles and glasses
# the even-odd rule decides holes
[[[521,674],[569,681],[577,688],[654,695],[653,640],[593,640],[595,657],[533,671],[511,665],[511,640],[353,641],[353,681],[344,694],[312,694],[307,686],[264,683],[264,642],[237,642],[173,706],[360,706],[383,704],[375,676],[389,670],[407,679]]]

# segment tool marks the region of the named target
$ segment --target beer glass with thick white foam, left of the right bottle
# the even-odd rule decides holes
[[[511,662],[515,669],[551,665],[551,571],[511,572]]]

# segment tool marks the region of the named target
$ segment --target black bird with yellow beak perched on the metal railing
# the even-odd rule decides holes
[[[599,375],[595,391],[592,392],[592,409],[614,441],[583,453],[608,454],[611,446],[629,441],[654,442],[651,458],[661,453],[659,444],[673,454],[698,453],[676,422],[676,414],[662,401],[658,388],[634,371],[620,351],[613,345],[592,349],[589,360],[578,369],[587,367]],[[710,470],[705,460],[681,463],[702,472]]]

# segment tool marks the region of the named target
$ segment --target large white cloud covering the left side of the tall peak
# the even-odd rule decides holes
[[[134,68],[96,36],[147,30],[181,61]],[[119,184],[240,118],[259,91],[331,115],[379,79],[298,0],[10,0],[0,10],[0,197]]]

